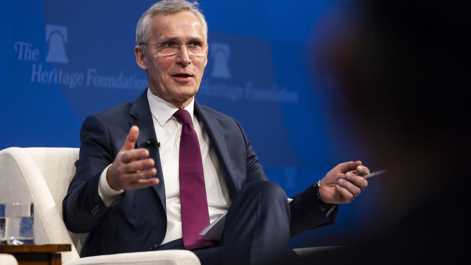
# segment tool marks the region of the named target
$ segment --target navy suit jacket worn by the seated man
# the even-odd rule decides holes
[[[223,169],[230,196],[254,180],[267,180],[262,166],[235,119],[195,102],[195,115],[203,122]],[[114,206],[106,207],[98,194],[99,178],[122,148],[131,126],[139,127],[136,148],[147,148],[156,161],[158,185],[126,190]],[[73,233],[90,233],[81,256],[149,251],[165,237],[167,216],[165,183],[158,147],[146,140],[156,137],[147,89],[133,103],[122,104],[90,115],[80,131],[77,172],[62,202],[63,219]],[[313,186],[292,197],[290,234],[296,235],[333,222],[314,197]]]

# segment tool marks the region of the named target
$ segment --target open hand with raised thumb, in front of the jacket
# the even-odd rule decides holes
[[[159,183],[157,178],[150,178],[157,174],[157,169],[154,159],[147,158],[149,151],[145,148],[134,149],[137,136],[139,129],[132,126],[123,148],[106,172],[106,181],[115,190],[144,188]]]

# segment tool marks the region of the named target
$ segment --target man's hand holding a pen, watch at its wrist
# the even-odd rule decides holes
[[[325,203],[349,203],[368,182],[361,176],[369,174],[362,161],[338,164],[320,181],[319,195]]]

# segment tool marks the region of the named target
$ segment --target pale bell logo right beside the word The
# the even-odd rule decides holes
[[[65,53],[67,27],[46,25],[46,41],[49,42],[49,52],[46,56],[47,62],[69,63]]]

